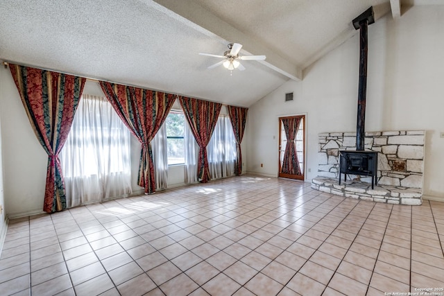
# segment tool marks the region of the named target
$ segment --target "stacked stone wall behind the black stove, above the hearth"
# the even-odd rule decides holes
[[[318,175],[339,178],[339,151],[356,150],[356,133],[326,132],[318,137]],[[378,153],[377,183],[422,189],[424,143],[424,130],[366,132],[365,150]],[[348,175],[350,180],[355,177]],[[371,182],[370,177],[361,181]]]

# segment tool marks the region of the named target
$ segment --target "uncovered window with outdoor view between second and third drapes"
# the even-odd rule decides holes
[[[183,112],[171,110],[165,120],[165,125],[168,165],[185,164],[185,115]]]

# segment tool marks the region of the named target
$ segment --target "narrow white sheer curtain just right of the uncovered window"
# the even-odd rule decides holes
[[[197,179],[197,159],[199,155],[199,146],[194,139],[189,124],[185,123],[185,184],[191,184],[198,182]]]

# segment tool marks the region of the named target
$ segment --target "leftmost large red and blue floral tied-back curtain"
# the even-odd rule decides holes
[[[43,210],[66,209],[65,184],[58,157],[68,137],[86,78],[10,64],[29,122],[48,154]]]

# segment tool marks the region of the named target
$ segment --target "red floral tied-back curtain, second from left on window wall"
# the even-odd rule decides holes
[[[173,94],[100,82],[106,98],[119,117],[142,143],[138,184],[145,193],[155,192],[155,173],[151,141],[176,100]]]

